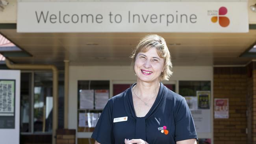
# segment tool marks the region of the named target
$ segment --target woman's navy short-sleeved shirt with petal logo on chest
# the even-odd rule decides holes
[[[144,117],[137,117],[132,87],[108,100],[91,138],[100,144],[124,144],[124,139],[143,139],[149,144],[175,144],[197,139],[194,121],[184,97],[160,83],[154,104]],[[114,118],[126,117],[114,122]]]

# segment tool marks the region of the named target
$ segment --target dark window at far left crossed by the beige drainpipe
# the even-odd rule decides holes
[[[52,132],[52,72],[22,72],[20,132]],[[64,74],[59,72],[58,128],[64,126]]]

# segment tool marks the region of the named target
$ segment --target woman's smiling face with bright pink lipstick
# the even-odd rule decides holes
[[[134,71],[137,80],[145,82],[159,81],[159,76],[164,68],[164,59],[161,58],[156,48],[150,48],[147,52],[137,54]]]

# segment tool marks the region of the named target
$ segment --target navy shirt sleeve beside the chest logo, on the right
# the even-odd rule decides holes
[[[177,103],[174,114],[175,142],[192,138],[197,139],[195,124],[185,98]]]

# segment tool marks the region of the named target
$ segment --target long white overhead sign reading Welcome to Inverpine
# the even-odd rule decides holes
[[[248,32],[247,2],[18,2],[17,32]]]

